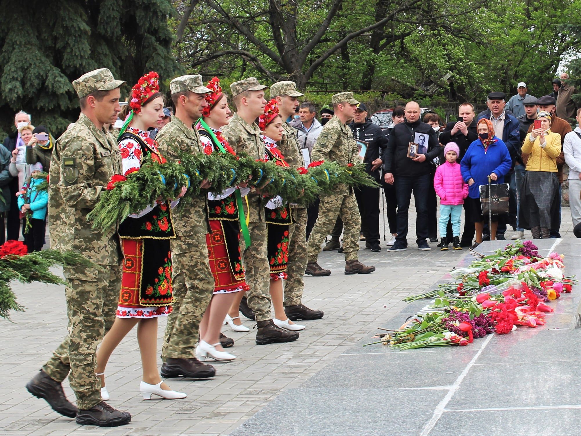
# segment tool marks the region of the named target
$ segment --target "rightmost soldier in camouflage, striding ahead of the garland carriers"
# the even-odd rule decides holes
[[[313,162],[331,160],[339,165],[359,162],[357,142],[347,126],[355,115],[358,103],[353,97],[353,92],[339,92],[333,95],[335,115],[323,126],[313,146],[311,153]],[[345,274],[372,273],[375,271],[374,266],[365,266],[357,260],[361,216],[353,190],[347,185],[338,185],[332,195],[321,197],[319,216],[309,237],[309,263],[305,272],[311,276],[331,274],[331,271],[324,270],[318,265],[317,258],[321,252],[322,241],[332,230],[338,216],[344,224]]]

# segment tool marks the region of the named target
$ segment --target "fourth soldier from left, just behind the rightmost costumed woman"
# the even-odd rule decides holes
[[[297,97],[302,97],[296,90],[296,84],[292,81],[277,82],[270,87],[270,97],[276,98],[279,114],[284,121],[282,128],[282,140],[278,148],[285,156],[286,162],[293,168],[304,167],[303,153],[300,149],[297,130],[290,127],[286,120],[295,115],[295,109],[299,106]],[[307,267],[309,251],[307,250],[307,209],[303,206],[294,206],[292,216],[295,223],[289,227],[288,266],[285,281],[285,313],[292,321],[314,320],[323,317],[321,310],[312,310],[301,303],[304,291],[304,270]]]

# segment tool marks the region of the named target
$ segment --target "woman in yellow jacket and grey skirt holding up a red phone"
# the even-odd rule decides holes
[[[557,156],[561,153],[561,135],[551,131],[551,115],[539,112],[541,127],[533,129],[522,143],[529,155],[521,183],[519,224],[532,231],[533,238],[548,238],[551,228],[558,228],[559,180]]]

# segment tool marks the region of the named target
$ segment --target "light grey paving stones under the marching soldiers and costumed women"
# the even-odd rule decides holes
[[[15,436],[211,436],[234,432],[269,403],[284,399],[285,389],[299,387],[335,362],[347,349],[369,338],[376,327],[406,307],[402,301],[405,296],[424,291],[466,254],[466,250],[440,252],[435,249],[436,244],[431,244],[432,251],[418,251],[413,244],[413,215],[410,214],[408,251],[388,253],[382,241],[383,250],[371,253],[363,249],[364,242],[361,242],[360,260],[377,267],[373,274],[346,276],[342,254],[322,253],[320,265],[331,269],[332,274],[330,277],[306,276],[303,302],[311,308],[324,310],[325,317],[305,321],[307,329],[300,333],[298,341],[259,346],[254,343],[254,331],[235,333],[224,328],[224,333],[235,340],[234,348],[229,351],[238,358],[234,362],[214,364],[217,376],[211,380],[170,379],[170,386],[187,392],[187,399],[142,400],[138,389],[141,380],[139,349],[135,332],[130,333],[113,354],[106,374],[112,398],[109,403],[132,414],[131,423],[124,427],[77,426],[74,420],[52,412],[46,402],[28,394],[24,385],[66,334],[64,288],[13,284],[19,302],[27,310],[15,313],[13,323],[0,321],[3,349],[0,357],[0,431]],[[569,209],[563,209],[561,231],[571,234],[571,230]],[[253,323],[245,320],[245,325],[252,327]],[[164,327],[162,320],[159,344]],[[74,399],[67,383],[64,388],[69,398]],[[317,409],[316,395],[304,401],[306,408]]]

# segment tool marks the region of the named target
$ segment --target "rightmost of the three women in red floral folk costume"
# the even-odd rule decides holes
[[[258,119],[258,126],[264,141],[266,156],[264,160],[272,160],[279,166],[288,167],[284,156],[277,147],[277,141],[282,139],[284,128],[281,116],[278,115],[278,103],[272,99],[264,106],[264,114]],[[288,263],[289,224],[293,223],[290,207],[276,196],[268,201],[265,210],[268,232],[268,262],[270,263],[270,296],[274,307],[274,323],[286,330],[303,330],[305,327],[289,320],[284,308],[282,280],[286,279],[286,264]]]

